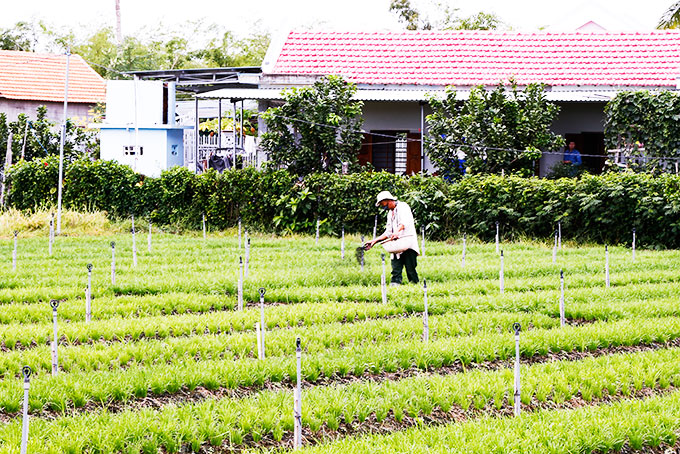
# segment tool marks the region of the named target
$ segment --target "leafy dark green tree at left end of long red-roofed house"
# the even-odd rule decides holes
[[[276,165],[298,175],[338,171],[343,162],[355,166],[363,103],[352,100],[354,93],[356,85],[340,76],[287,91],[283,106],[263,114],[262,148]]]

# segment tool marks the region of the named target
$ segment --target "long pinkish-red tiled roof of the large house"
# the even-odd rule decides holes
[[[340,74],[360,84],[675,86],[680,31],[291,32],[267,74]]]

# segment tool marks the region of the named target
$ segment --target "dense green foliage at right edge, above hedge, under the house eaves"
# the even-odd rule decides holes
[[[605,106],[605,145],[631,156],[680,157],[680,95],[626,91]],[[657,166],[650,159],[643,167]],[[673,170],[675,170],[673,166]]]

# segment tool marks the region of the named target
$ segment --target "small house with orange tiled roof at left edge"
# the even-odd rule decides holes
[[[47,107],[55,123],[63,121],[66,55],[0,50],[0,112],[14,121],[21,113],[34,118]],[[106,100],[106,83],[79,55],[68,64],[67,116],[87,124],[93,108]]]

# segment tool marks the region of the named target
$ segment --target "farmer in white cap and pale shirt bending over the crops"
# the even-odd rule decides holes
[[[382,191],[378,194],[375,206],[387,210],[387,226],[385,233],[369,241],[366,250],[372,248],[376,243],[387,240],[383,247],[392,256],[392,279],[390,285],[401,285],[402,270],[406,267],[406,276],[409,282],[418,283],[418,234],[413,222],[411,207],[406,202],[400,202],[390,194],[389,191]]]

